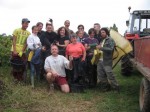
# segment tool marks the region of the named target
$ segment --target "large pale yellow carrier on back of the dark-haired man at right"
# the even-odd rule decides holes
[[[128,54],[133,50],[132,45],[130,42],[125,39],[122,35],[120,35],[118,32],[114,30],[110,30],[110,37],[113,38],[113,40],[116,43],[116,49],[113,53],[113,66],[117,64],[117,62],[120,60],[120,58]]]

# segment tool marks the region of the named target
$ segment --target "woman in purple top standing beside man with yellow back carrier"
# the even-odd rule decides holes
[[[89,78],[89,86],[95,87],[97,84],[97,72],[96,72],[96,65],[92,65],[91,59],[94,54],[94,49],[99,44],[98,40],[94,38],[95,30],[94,28],[89,29],[88,31],[89,37],[85,38],[84,46],[87,53],[87,74]]]

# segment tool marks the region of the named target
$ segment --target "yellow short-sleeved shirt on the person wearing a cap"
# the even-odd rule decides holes
[[[13,32],[13,36],[16,37],[16,51],[17,51],[17,53],[20,53],[23,50],[23,47],[24,47],[26,40],[27,40],[29,35],[30,35],[30,32],[27,30],[23,30],[22,28],[16,29]],[[13,46],[11,48],[11,51],[13,51]]]

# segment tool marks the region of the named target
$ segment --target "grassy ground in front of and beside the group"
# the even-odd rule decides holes
[[[142,76],[134,71],[131,77],[120,74],[120,66],[114,69],[120,84],[120,94],[101,92],[98,89],[85,93],[64,94],[59,90],[48,94],[46,83],[15,84],[9,67],[0,67],[0,80],[7,85],[0,112],[139,112],[139,85]]]

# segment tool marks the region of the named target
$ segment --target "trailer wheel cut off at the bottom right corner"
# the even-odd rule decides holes
[[[150,81],[142,79],[140,85],[140,112],[150,112]]]

